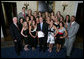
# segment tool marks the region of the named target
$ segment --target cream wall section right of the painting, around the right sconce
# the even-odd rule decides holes
[[[60,11],[64,17],[67,14],[69,14],[70,16],[76,16],[78,3],[83,3],[83,1],[68,1],[68,6],[65,8],[65,11],[63,12],[63,6],[61,4],[61,1],[55,1],[55,13],[57,11]]]

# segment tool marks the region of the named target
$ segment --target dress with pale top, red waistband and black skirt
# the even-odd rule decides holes
[[[56,35],[56,40],[55,40],[55,43],[57,44],[61,44],[63,45],[64,44],[64,38],[60,38],[61,36],[64,35],[64,31],[65,31],[65,28],[63,29],[58,29],[58,34]]]

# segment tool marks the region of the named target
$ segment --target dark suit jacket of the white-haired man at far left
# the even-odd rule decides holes
[[[10,34],[13,38],[13,40],[21,40],[21,34],[20,34],[20,30],[14,25],[14,24],[11,24],[10,25]]]

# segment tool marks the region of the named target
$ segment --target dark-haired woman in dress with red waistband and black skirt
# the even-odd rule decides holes
[[[55,41],[55,43],[56,43],[56,52],[60,51],[61,47],[64,44],[64,39],[67,36],[67,31],[64,28],[64,23],[60,22],[59,25],[60,25],[60,28],[58,29],[58,34],[56,35],[56,41]]]

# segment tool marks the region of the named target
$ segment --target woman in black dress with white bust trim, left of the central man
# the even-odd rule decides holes
[[[36,29],[37,29],[36,22],[33,20],[32,25],[29,26],[29,34],[32,50],[34,50],[37,46]]]

